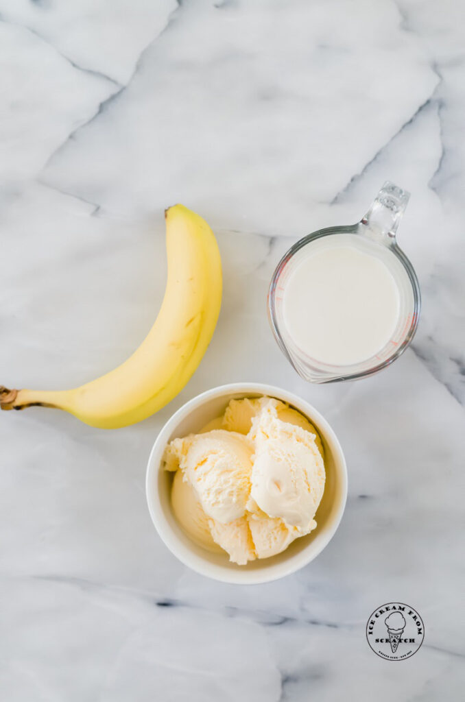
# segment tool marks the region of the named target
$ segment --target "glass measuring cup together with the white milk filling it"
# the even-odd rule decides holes
[[[360,222],[309,234],[277,266],[268,295],[270,324],[306,380],[368,376],[412,341],[419,284],[395,240],[409,197],[385,183]]]

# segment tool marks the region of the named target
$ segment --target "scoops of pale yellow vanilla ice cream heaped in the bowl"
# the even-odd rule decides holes
[[[315,427],[270,397],[231,400],[203,432],[173,439],[173,512],[193,541],[243,565],[285,550],[315,529],[325,489]]]

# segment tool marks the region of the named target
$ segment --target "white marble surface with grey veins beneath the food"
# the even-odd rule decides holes
[[[211,223],[225,274],[211,347],[156,416],[0,416],[2,699],[463,698],[464,20],[457,0],[0,0],[0,381],[66,388],[129,355],[175,201]],[[412,192],[417,337],[379,376],[307,385],[268,328],[273,268],[387,178]],[[325,552],[253,587],[185,569],[145,506],[159,428],[235,380],[315,404],[349,470]],[[395,664],[365,640],[393,600],[426,628]]]

